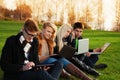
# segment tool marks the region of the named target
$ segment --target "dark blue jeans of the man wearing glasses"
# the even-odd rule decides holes
[[[55,61],[54,66],[52,66],[48,71],[43,69],[38,71],[24,71],[19,80],[58,80],[62,69],[62,63]]]

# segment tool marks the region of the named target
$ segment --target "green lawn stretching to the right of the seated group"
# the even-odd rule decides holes
[[[102,46],[106,42],[111,45],[99,56],[98,63],[105,63],[108,68],[99,70],[102,75],[99,80],[120,80],[120,32],[85,31],[85,37],[90,38],[90,48]]]

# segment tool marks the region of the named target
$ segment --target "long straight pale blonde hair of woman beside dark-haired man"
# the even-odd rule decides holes
[[[62,49],[64,43],[63,43],[63,37],[65,35],[65,33],[71,29],[72,30],[72,26],[70,24],[63,24],[57,32],[57,46],[59,47],[59,51]]]

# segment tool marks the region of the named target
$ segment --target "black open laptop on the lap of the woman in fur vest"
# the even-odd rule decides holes
[[[64,45],[61,51],[57,55],[52,55],[51,57],[54,57],[57,59],[62,58],[62,57],[66,59],[70,59],[74,56],[75,52],[76,52],[75,48]]]

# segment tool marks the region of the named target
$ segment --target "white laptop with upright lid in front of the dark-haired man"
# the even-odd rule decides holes
[[[75,52],[75,55],[83,54],[89,51],[89,39],[80,39],[78,40],[78,51]]]

